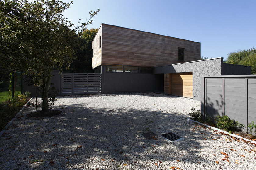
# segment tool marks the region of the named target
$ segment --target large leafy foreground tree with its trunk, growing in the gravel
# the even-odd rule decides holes
[[[48,91],[55,68],[69,67],[74,60],[77,30],[91,24],[99,9],[90,12],[89,20],[74,25],[62,13],[70,3],[59,0],[0,1],[0,67],[23,70],[32,75],[42,89],[42,112],[48,113]],[[62,70],[60,70],[62,71]]]

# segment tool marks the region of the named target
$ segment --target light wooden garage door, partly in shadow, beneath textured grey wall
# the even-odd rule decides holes
[[[172,73],[172,95],[193,98],[192,72]]]

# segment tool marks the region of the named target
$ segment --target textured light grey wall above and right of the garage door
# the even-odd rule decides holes
[[[193,72],[193,96],[200,97],[200,77],[220,76],[223,58],[201,60],[189,63],[173,64],[169,66],[156,67],[154,74]]]

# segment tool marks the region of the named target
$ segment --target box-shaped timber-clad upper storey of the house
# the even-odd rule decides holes
[[[184,48],[183,61],[178,60],[178,48]],[[200,60],[200,42],[108,24],[101,24],[92,49],[92,69],[101,64],[156,67]]]

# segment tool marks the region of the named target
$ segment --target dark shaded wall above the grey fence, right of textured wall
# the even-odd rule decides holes
[[[223,63],[221,75],[248,75],[251,74],[251,66]]]

